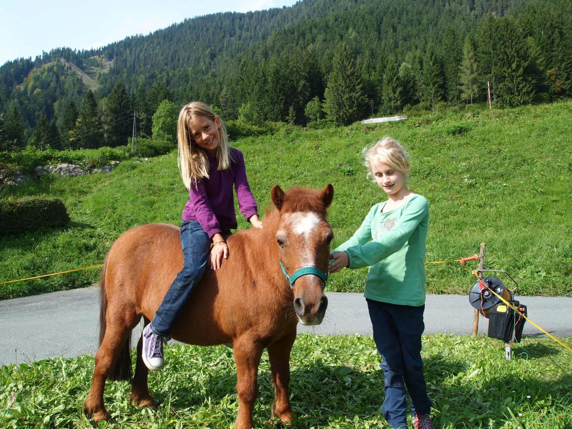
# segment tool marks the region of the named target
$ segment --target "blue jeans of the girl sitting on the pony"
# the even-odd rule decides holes
[[[223,234],[231,232],[223,228]],[[201,280],[210,255],[210,239],[197,221],[181,222],[181,245],[185,262],[173,280],[151,321],[151,330],[168,339],[173,324],[190,293]]]

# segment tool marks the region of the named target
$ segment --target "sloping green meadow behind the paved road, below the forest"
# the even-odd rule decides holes
[[[522,295],[572,294],[572,102],[483,110],[411,113],[407,121],[303,130],[284,126],[272,136],[233,142],[245,154],[261,207],[273,184],[335,188],[329,221],[333,245],[347,240],[382,196],[366,178],[360,150],[386,134],[410,152],[408,185],[430,202],[427,261],[478,253],[485,265],[506,269]],[[100,264],[113,241],[137,225],[178,224],[187,194],[176,153],[125,161],[109,174],[45,177],[5,188],[3,198],[49,194],[70,213],[69,229],[0,240],[0,282]],[[247,227],[239,218],[239,228]],[[468,293],[474,276],[459,264],[427,266],[428,293]],[[0,285],[0,299],[96,283],[99,271]],[[362,291],[366,270],[344,270],[329,291]],[[506,283],[509,282],[508,279]]]

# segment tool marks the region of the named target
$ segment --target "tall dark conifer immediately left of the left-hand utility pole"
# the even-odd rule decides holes
[[[131,100],[121,81],[117,82],[108,97],[110,122],[108,139],[111,146],[126,145],[132,134],[133,110]]]

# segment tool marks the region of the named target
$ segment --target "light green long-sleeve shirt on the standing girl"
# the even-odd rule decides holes
[[[348,254],[348,268],[370,267],[366,298],[418,307],[425,303],[429,204],[418,194],[387,213],[382,213],[384,204],[374,205],[358,231],[334,252]]]

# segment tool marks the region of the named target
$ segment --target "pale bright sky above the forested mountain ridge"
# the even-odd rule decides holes
[[[0,65],[54,47],[90,49],[185,18],[292,6],[296,0],[0,0]]]

